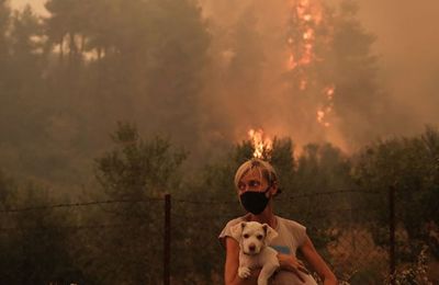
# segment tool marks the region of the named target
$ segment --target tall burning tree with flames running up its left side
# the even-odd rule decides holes
[[[356,19],[357,10],[348,0],[337,10],[322,0],[291,4],[285,80],[291,119],[304,123],[295,124],[301,137],[350,148],[391,126],[371,53],[374,36]]]

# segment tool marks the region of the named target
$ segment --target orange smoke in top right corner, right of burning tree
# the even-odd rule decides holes
[[[358,0],[359,20],[376,34],[383,84],[406,116],[405,134],[439,122],[439,2]]]

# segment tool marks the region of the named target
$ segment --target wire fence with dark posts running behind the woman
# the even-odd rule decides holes
[[[395,200],[392,190],[384,194],[306,193],[277,197],[274,207],[279,216],[307,227],[341,283],[395,284]],[[170,195],[3,208],[1,249],[16,247],[24,256],[15,256],[18,264],[5,269],[1,283],[222,284],[225,252],[217,236],[243,214],[238,200]],[[29,261],[29,254],[45,250],[55,260],[67,254],[65,263],[55,263],[55,275],[45,267],[47,256]],[[20,262],[40,280],[15,277],[23,275]]]

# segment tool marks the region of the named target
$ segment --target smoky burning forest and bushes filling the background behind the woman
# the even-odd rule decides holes
[[[282,29],[207,2],[0,0],[0,283],[161,284],[170,194],[172,284],[222,284],[255,126],[340,281],[389,282],[392,189],[395,278],[438,282],[439,129],[395,135],[354,2],[273,1]]]

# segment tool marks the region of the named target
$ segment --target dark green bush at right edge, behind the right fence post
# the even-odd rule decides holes
[[[394,138],[369,146],[359,155],[353,169],[362,191],[378,191],[383,197],[391,186],[395,187],[395,212],[397,223],[408,233],[408,243],[404,247],[412,252],[409,259],[420,250],[423,240],[429,241],[431,251],[438,254],[438,244],[430,236],[429,226],[439,223],[438,208],[432,202],[439,197],[438,146],[438,129],[427,127],[418,137]],[[389,216],[386,200],[371,203],[381,210],[381,216]],[[382,219],[381,226],[386,223]]]

